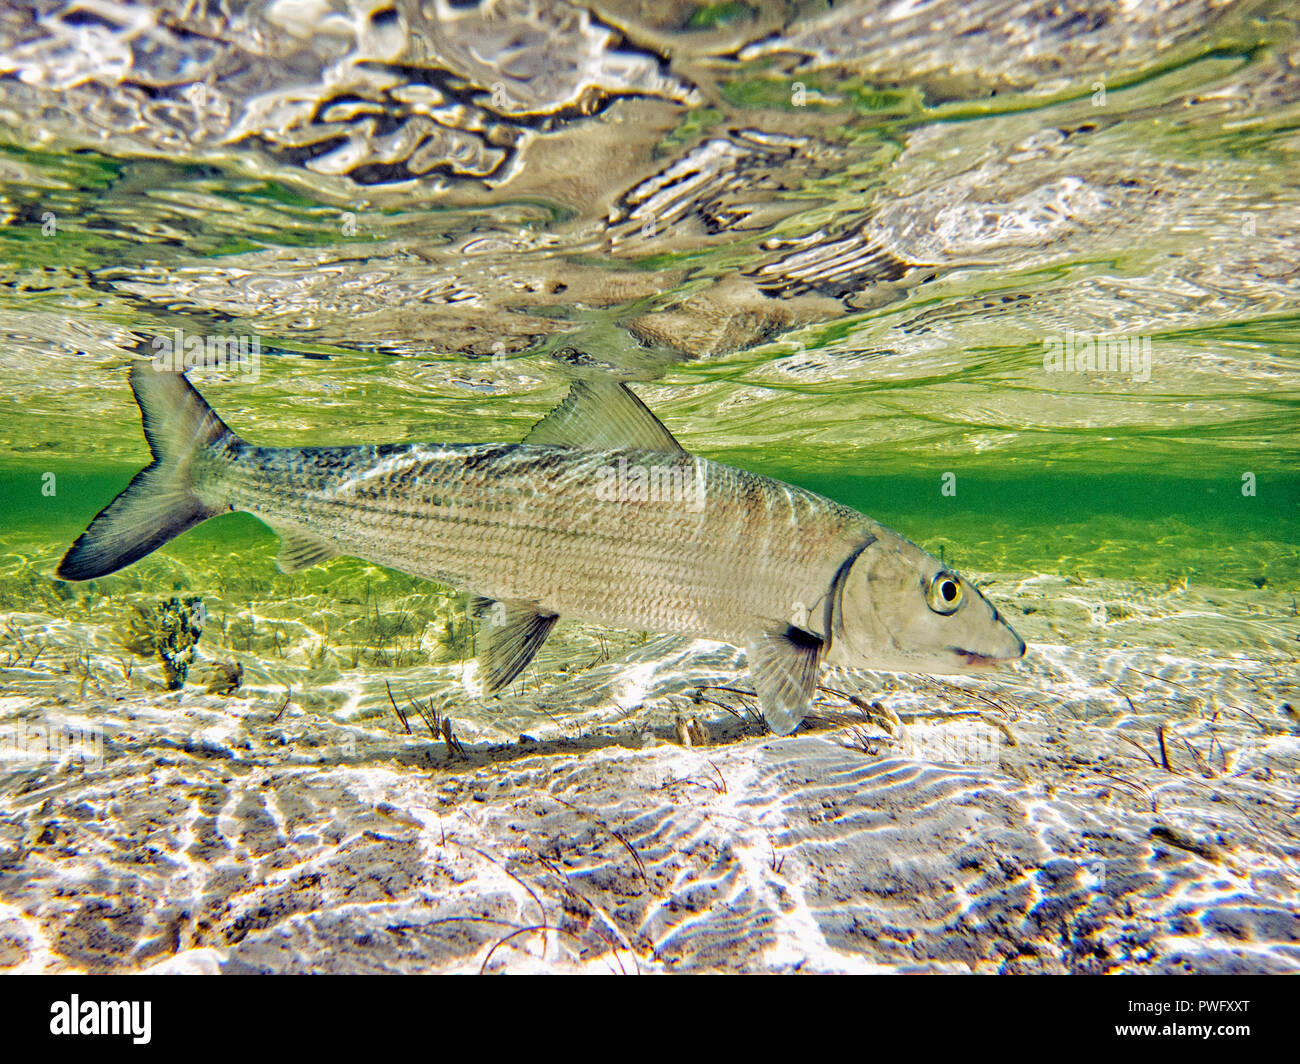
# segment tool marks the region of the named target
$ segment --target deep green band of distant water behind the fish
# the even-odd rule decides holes
[[[1044,572],[1162,584],[1179,578],[1228,588],[1300,591],[1300,481],[1280,475],[1256,479],[1242,494],[1230,473],[1218,479],[1173,476],[1060,475],[1001,471],[949,463],[953,468],[870,476],[850,470],[810,472],[762,454],[728,460],[807,488],[870,514],[933,554],[978,571]],[[46,473],[55,494],[47,496]],[[0,473],[8,499],[9,550],[36,571],[52,572],[87,516],[105,506],[135,470],[84,473],[49,463],[48,470]],[[954,480],[945,481],[952,472]],[[952,484],[954,494],[944,494]],[[269,587],[276,539],[252,518],[233,515],[194,529],[165,548],[181,565],[204,565],[222,548],[247,576]],[[100,583],[113,585],[113,578]],[[133,581],[134,583],[134,581]],[[419,581],[416,581],[419,584]]]

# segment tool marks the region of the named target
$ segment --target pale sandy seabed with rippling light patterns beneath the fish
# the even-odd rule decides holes
[[[162,692],[10,614],[0,970],[1300,972],[1290,596],[987,583],[1014,670],[832,670],[775,739],[653,637],[445,702],[459,751],[410,676]]]

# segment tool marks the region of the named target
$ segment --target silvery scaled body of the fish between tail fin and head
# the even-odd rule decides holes
[[[811,606],[874,523],[831,499],[706,459],[705,503],[597,497],[649,451],[514,445],[235,447],[205,455],[200,497],[415,576],[611,627],[744,639]],[[400,468],[396,468],[400,463]],[[387,464],[381,476],[374,470]],[[439,505],[430,505],[430,502]]]

